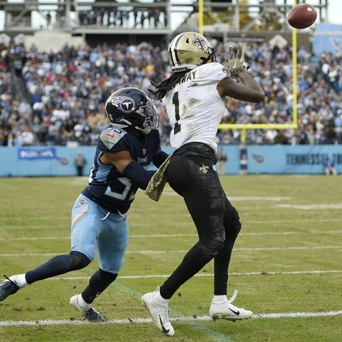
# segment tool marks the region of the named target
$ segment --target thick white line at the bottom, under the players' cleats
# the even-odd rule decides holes
[[[289,313],[273,313],[273,314],[258,314],[253,315],[251,319],[256,318],[296,318],[296,317],[327,317],[342,315],[342,310],[339,311],[328,311],[328,312],[289,312]],[[210,321],[209,316],[197,316],[194,317],[170,317],[174,321]],[[151,318],[130,318],[130,319],[110,319],[104,323],[90,323],[85,320],[36,320],[36,321],[0,321],[1,327],[10,326],[39,326],[39,325],[89,325],[89,324],[140,324],[140,323],[151,323]]]

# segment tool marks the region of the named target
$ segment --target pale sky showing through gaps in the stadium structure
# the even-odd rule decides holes
[[[39,2],[43,3],[44,0],[38,0]],[[53,2],[56,0],[49,0],[49,2]],[[83,0],[83,1],[87,1],[87,0]],[[90,0],[91,1],[91,0]],[[124,0],[121,0],[124,1]],[[118,0],[118,2],[121,2],[120,0]],[[236,3],[237,0],[233,0],[233,4]],[[328,13],[327,13],[327,17],[328,20],[327,22],[332,23],[332,24],[340,24],[342,25],[342,0],[321,0],[322,3],[325,3],[326,1],[328,1]],[[24,0],[8,0],[8,2],[24,2]],[[56,1],[57,2],[57,1]],[[151,0],[141,0],[141,2],[151,2]],[[177,3],[187,3],[189,2],[190,4],[194,2],[194,0],[171,0],[172,4],[177,4]],[[294,2],[294,0],[286,0],[286,4],[287,5],[292,5]],[[302,1],[301,1],[302,2]],[[249,0],[250,4],[259,4],[259,0]],[[310,3],[311,5],[315,6],[319,4],[319,0],[306,0],[306,3]],[[279,5],[283,5],[284,4],[284,0],[276,0],[276,4]],[[49,8],[46,8],[44,6],[44,8],[42,8],[44,10],[49,10]],[[181,22],[183,21],[183,18],[186,16],[186,13],[182,14],[182,13],[175,13],[175,14],[171,14],[170,16],[170,22],[171,22],[171,28],[172,29],[176,29]],[[326,13],[323,12],[323,17],[326,17]],[[41,17],[39,14],[35,14],[34,16],[34,21],[37,22],[38,24],[41,21]],[[317,18],[317,21],[319,22],[319,16]],[[4,12],[0,11],[0,30],[3,29],[4,26]]]

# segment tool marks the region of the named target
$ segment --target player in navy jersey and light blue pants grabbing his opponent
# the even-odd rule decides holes
[[[89,321],[104,321],[91,305],[113,282],[122,267],[128,245],[128,210],[140,187],[146,189],[168,157],[161,151],[159,113],[143,91],[123,88],[109,96],[105,110],[110,126],[97,140],[89,185],[75,201],[71,216],[71,251],[57,255],[24,274],[6,277],[0,283],[0,301],[37,280],[86,267],[97,253],[99,269],[89,285],[70,299]]]

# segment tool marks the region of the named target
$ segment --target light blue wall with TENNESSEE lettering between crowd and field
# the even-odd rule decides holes
[[[341,145],[219,145],[227,155],[223,165],[224,174],[271,173],[323,174],[323,162],[329,157],[337,173],[342,173]],[[0,177],[11,176],[74,176],[74,165],[78,151],[87,160],[83,174],[88,175],[94,163],[95,146],[78,147],[32,147],[18,148],[0,146]],[[163,151],[172,154],[174,149],[162,146]],[[150,170],[155,170],[151,164]],[[219,171],[218,165],[216,169]]]

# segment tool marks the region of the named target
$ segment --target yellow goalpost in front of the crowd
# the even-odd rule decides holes
[[[292,7],[297,5],[297,1],[293,0]],[[203,0],[198,1],[199,11],[199,33],[203,35]],[[292,28],[292,123],[290,124],[277,124],[277,123],[222,123],[219,129],[241,129],[241,143],[246,143],[247,130],[251,129],[297,129],[297,29]]]

